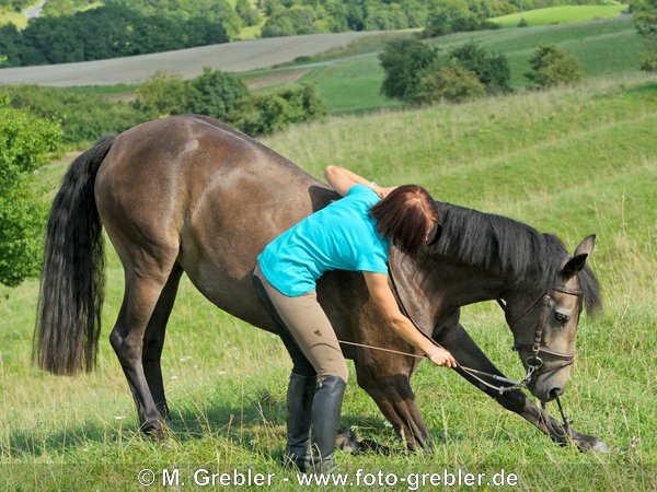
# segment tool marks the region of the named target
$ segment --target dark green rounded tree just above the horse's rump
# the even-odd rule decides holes
[[[203,73],[185,83],[183,110],[226,119],[235,103],[247,94],[246,85],[235,75],[204,67]]]

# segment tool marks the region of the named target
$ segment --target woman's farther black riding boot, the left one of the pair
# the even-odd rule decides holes
[[[310,465],[310,420],[315,386],[316,376],[290,375],[285,460],[301,471],[307,471]]]

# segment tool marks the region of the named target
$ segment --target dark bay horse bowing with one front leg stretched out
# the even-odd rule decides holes
[[[274,325],[252,288],[263,247],[335,192],[250,137],[201,116],[150,121],[107,137],[67,172],[48,222],[35,330],[35,359],[56,374],[94,365],[103,302],[104,226],[125,269],[125,296],[110,336],[132,393],[141,430],[159,435],[169,415],[160,356],[178,281],[186,272],[214,304],[256,327]],[[506,218],[438,203],[443,227],[419,261],[391,254],[408,315],[463,366],[500,375],[459,323],[460,306],[505,300],[526,367],[542,366],[529,390],[543,401],[569,377],[583,304],[598,307],[586,263],[593,237],[570,256],[554,236]],[[327,273],[318,288],[338,339],[412,353],[385,328],[362,276]],[[410,379],[419,359],[343,345],[358,385],[410,449],[431,441]],[[533,358],[533,359],[532,359]],[[566,361],[564,363],[564,361]],[[541,411],[520,389],[499,393],[457,370],[558,443],[606,450]],[[503,385],[504,386],[504,385]]]

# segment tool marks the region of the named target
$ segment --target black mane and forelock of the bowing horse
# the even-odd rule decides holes
[[[492,213],[437,202],[442,231],[430,251],[502,276],[511,286],[549,291],[562,261],[569,256],[552,234]],[[589,313],[600,307],[600,285],[587,267],[579,286]]]

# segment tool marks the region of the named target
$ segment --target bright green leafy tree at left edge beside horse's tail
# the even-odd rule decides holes
[[[61,130],[0,101],[0,283],[38,274],[45,210],[33,190],[35,169],[59,150]]]

